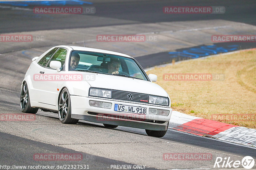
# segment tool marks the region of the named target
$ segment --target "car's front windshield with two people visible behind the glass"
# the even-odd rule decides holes
[[[146,80],[145,73],[135,60],[107,53],[72,51],[69,70],[111,74]]]

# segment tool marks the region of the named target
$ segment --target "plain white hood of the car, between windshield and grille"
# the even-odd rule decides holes
[[[88,74],[88,73],[86,73]],[[166,91],[156,83],[107,74],[94,74],[95,80],[88,81],[91,87],[115,89],[167,97]]]

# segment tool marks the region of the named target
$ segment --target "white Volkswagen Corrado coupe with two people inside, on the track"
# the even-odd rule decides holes
[[[145,129],[163,137],[171,100],[131,56],[101,49],[55,46],[32,59],[21,84],[20,108],[58,113],[64,124],[78,120]]]

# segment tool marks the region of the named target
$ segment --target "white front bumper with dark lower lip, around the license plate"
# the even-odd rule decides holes
[[[158,105],[144,104],[144,103],[131,103],[121,102],[113,99],[103,99],[98,97],[82,97],[70,96],[71,99],[71,117],[80,120],[91,121],[102,124],[112,124],[119,126],[134,127],[140,129],[148,129],[155,131],[167,130],[167,125],[172,115],[172,109],[168,107],[161,107]],[[89,105],[89,101],[100,101],[112,103],[110,109],[94,107]],[[135,114],[118,112],[114,110],[115,104],[123,104],[136,107],[147,108],[146,114]],[[168,116],[153,115],[148,113],[148,109],[162,109],[169,110]]]

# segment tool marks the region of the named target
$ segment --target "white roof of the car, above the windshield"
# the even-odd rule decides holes
[[[90,51],[90,52],[98,52],[98,53],[107,53],[107,54],[113,54],[113,55],[120,55],[128,58],[133,58],[129,55],[123,54],[123,53],[117,53],[114,51],[108,51],[108,50],[102,50],[102,49],[97,49],[97,48],[89,48],[89,47],[81,47],[81,46],[56,46],[56,47],[69,47],[72,50],[77,50],[77,51]]]

